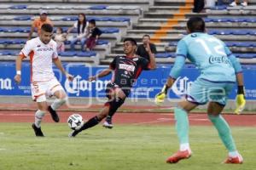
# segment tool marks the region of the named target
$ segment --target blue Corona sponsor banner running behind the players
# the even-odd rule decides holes
[[[2,63],[0,72],[0,95],[31,95],[30,92],[30,66],[28,64],[22,65],[22,82],[17,85],[14,81],[15,77],[15,63]],[[68,82],[66,77],[63,77],[61,72],[54,67],[55,77],[61,82],[61,85],[67,91],[68,96],[71,97],[105,97],[105,88],[111,80],[111,75],[102,77],[95,82],[89,82],[88,77],[95,75],[99,71],[107,67],[91,67],[90,65],[64,65],[66,70],[73,74],[73,82]],[[126,68],[125,65],[123,65]],[[132,68],[128,68],[132,70]],[[171,67],[162,66],[154,71],[143,71],[142,75],[131,89],[131,98],[151,98],[160,92],[160,89],[166,82]],[[247,99],[256,99],[256,67],[246,67],[243,70],[244,81],[246,87]],[[191,84],[199,76],[199,71],[194,67],[186,66],[180,77],[172,87],[169,93],[170,98],[177,99],[186,94]],[[230,99],[236,98],[236,85],[230,94]]]

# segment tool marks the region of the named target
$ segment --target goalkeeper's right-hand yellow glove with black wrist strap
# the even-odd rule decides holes
[[[244,97],[244,89],[243,86],[238,86],[237,88],[237,95],[236,95],[236,114],[240,114],[241,111],[244,110],[244,107],[246,105],[246,99]]]

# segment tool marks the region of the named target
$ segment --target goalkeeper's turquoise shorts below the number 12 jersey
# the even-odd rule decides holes
[[[235,82],[212,82],[198,78],[188,89],[186,99],[197,105],[205,105],[209,101],[226,105],[234,85]]]

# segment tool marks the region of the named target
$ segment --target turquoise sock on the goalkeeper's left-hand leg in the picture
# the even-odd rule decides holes
[[[177,138],[179,139],[180,150],[190,150],[188,113],[181,108],[175,108],[174,116],[176,120],[176,131]]]

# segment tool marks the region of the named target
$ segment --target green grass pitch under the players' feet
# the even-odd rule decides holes
[[[173,126],[97,126],[75,139],[67,123],[44,123],[36,138],[30,123],[0,123],[0,170],[253,170],[256,127],[231,127],[242,165],[221,164],[227,156],[214,127],[190,127],[193,156],[177,164],[166,158],[178,149]]]

